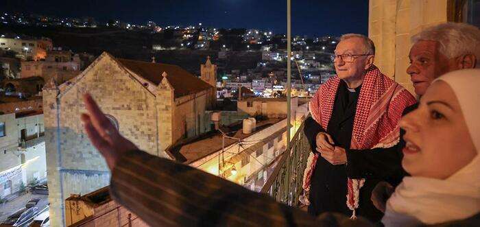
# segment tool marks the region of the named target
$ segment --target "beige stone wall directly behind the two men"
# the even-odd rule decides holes
[[[447,0],[370,0],[368,36],[376,46],[376,66],[413,94],[406,73],[410,38],[446,21]]]

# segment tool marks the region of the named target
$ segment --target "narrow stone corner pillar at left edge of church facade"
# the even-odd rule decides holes
[[[50,80],[43,88],[43,116],[45,123],[45,152],[47,159],[47,178],[49,186],[50,223],[51,226],[65,226],[60,176],[60,150],[58,134],[58,87]]]

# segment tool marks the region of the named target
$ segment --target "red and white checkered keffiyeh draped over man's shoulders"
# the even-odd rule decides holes
[[[325,130],[332,115],[339,83],[339,77],[332,77],[320,86],[309,103],[311,116]],[[415,102],[416,99],[403,86],[383,75],[377,67],[370,67],[357,101],[350,149],[367,150],[396,145],[400,137],[398,121],[403,110]],[[311,154],[309,157],[303,179],[305,191],[309,191],[311,176],[319,156]],[[353,218],[355,208],[359,206],[359,190],[364,183],[365,179],[348,178],[346,203],[353,211]]]

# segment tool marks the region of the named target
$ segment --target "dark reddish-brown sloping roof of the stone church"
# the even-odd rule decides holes
[[[166,72],[167,80],[175,89],[175,97],[182,97],[184,95],[190,95],[204,91],[208,88],[213,88],[213,86],[207,82],[204,82],[200,78],[174,64],[142,62],[138,60],[127,60],[121,58],[117,58],[117,60],[124,67],[130,69],[130,71],[133,71],[137,75],[140,75],[145,80],[148,80],[155,85],[160,84],[160,82],[163,80],[162,73]]]

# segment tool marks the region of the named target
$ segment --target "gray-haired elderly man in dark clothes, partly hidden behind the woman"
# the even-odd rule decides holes
[[[411,42],[413,46],[409,53],[410,66],[407,68],[407,73],[411,76],[411,82],[418,96],[424,95],[431,82],[440,75],[459,69],[480,68],[480,29],[475,26],[465,23],[442,23],[412,36]],[[417,104],[407,107],[404,115],[416,108]],[[382,172],[384,178],[396,180],[379,183],[372,195],[374,205],[381,211],[385,211],[385,201],[405,176],[405,171],[401,169],[403,147],[405,147],[405,141],[400,138],[400,143],[395,147],[371,150],[370,156],[359,157],[358,163],[373,165],[355,167],[358,175],[363,176],[366,172],[374,171],[372,169],[376,166],[383,165],[375,163],[375,156],[381,154],[390,158],[398,157],[392,165],[388,167],[383,165],[385,169]]]

